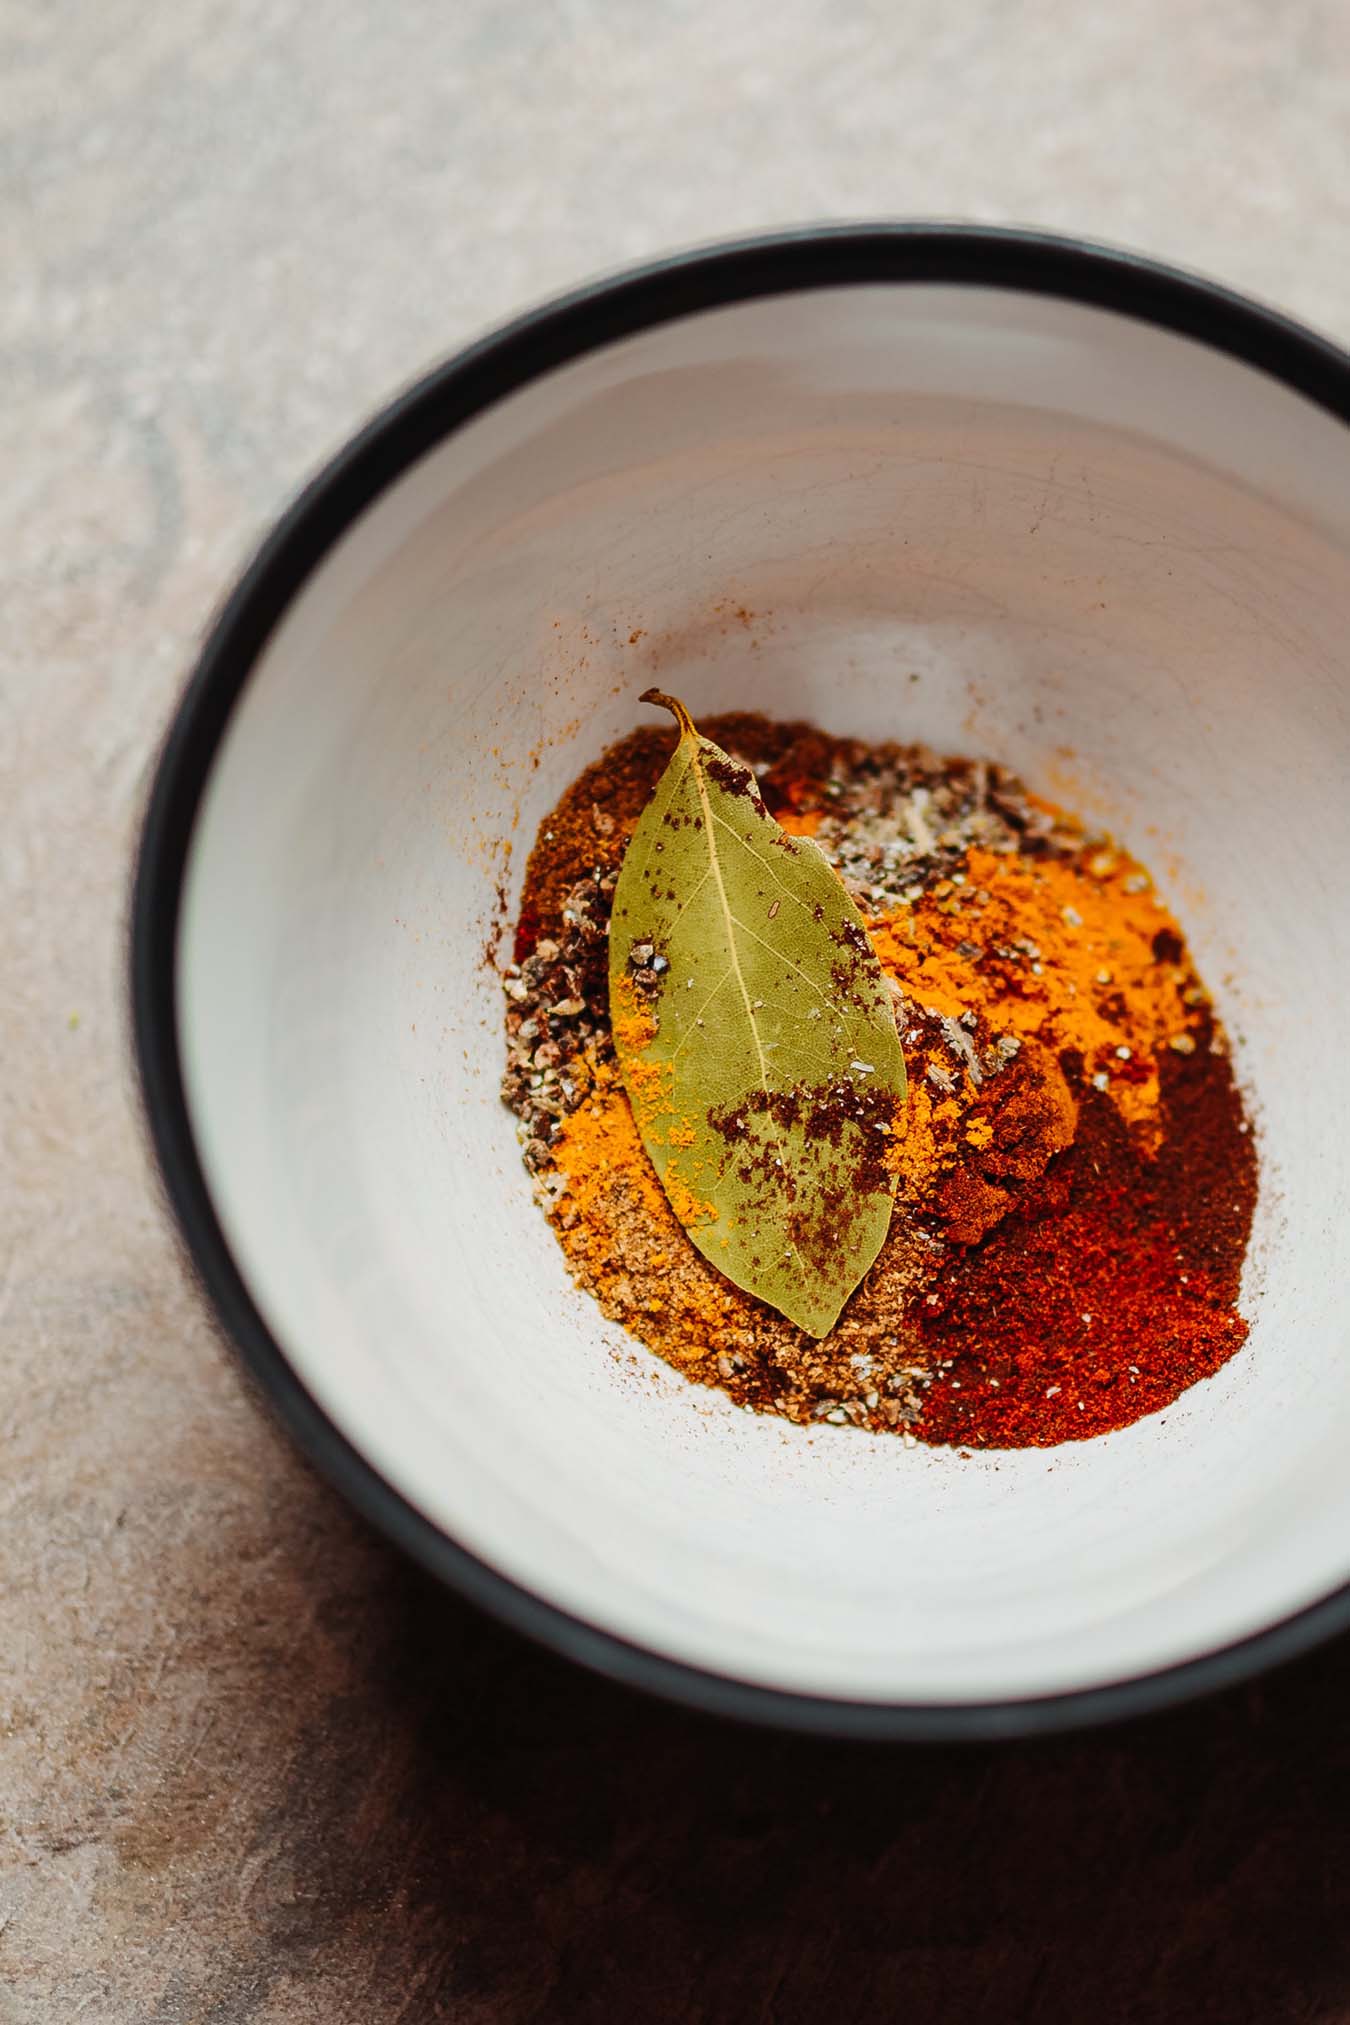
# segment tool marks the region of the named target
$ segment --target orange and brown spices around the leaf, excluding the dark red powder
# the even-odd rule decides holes
[[[893,980],[911,1098],[887,1243],[836,1328],[812,1341],[694,1249],[670,1207],[686,1189],[678,1158],[658,1177],[642,1148],[613,1063],[603,952],[613,871],[670,753],[664,731],[634,733],[587,770],[530,859],[504,1083],[526,1164],[577,1284],[688,1377],[795,1422],[941,1438],[933,1428],[951,1418],[927,1401],[959,1387],[959,1359],[947,1345],[935,1355],[925,1324],[949,1262],[1054,1172],[1085,1106],[1099,1118],[1105,1102],[1133,1156],[1156,1160],[1172,1071],[1202,1057],[1231,1083],[1222,1029],[1148,873],[1000,767],[763,719],[706,729],[755,765],[785,826],[816,836]],[[644,1010],[634,1000],[619,1017]],[[686,1221],[694,1211],[680,1201]]]

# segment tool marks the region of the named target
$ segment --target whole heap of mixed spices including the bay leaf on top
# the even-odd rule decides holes
[[[998,755],[644,701],[674,731],[544,816],[504,974],[577,1286],[692,1383],[909,1448],[1212,1377],[1257,1152],[1150,871]]]

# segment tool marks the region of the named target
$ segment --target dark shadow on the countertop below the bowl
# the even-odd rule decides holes
[[[277,1972],[360,1956],[368,2025],[1350,2019],[1350,1640],[1125,1729],[852,1746],[642,1699],[374,1561],[283,1768],[308,1887],[251,1901]]]

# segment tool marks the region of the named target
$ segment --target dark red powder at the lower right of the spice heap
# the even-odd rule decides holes
[[[923,1336],[949,1367],[915,1434],[1048,1448],[1123,1428],[1210,1377],[1247,1336],[1235,1302],[1257,1162],[1227,1055],[1164,1065],[1142,1156],[1081,1091],[1075,1144],[982,1243],[949,1258]]]

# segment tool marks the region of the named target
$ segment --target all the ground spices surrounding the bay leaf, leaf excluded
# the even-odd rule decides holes
[[[634,731],[530,853],[502,1096],[575,1282],[686,1377],[797,1424],[1028,1448],[1123,1428],[1243,1345],[1253,1134],[1148,871],[1006,767],[731,715],[704,727],[858,907],[909,1067],[895,1211],[814,1339],[733,1286],[644,1152],[609,913],[674,749]],[[642,998],[660,954],[634,946]]]

